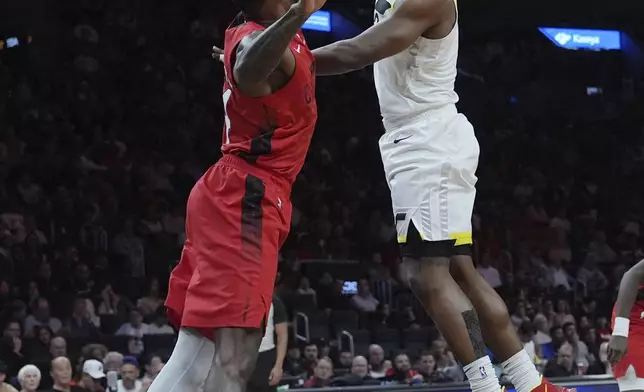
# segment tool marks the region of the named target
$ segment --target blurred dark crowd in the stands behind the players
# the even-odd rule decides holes
[[[174,342],[162,304],[185,200],[220,156],[210,47],[226,22],[205,1],[58,11],[54,59],[36,67],[38,37],[0,52],[0,383],[100,391],[115,372],[119,391],[140,391]],[[623,66],[464,26],[457,91],[482,150],[475,259],[549,376],[610,372],[613,295],[644,257],[644,86]],[[372,83],[369,70],[319,80],[276,287],[295,320],[294,386],[464,377],[397,281]]]

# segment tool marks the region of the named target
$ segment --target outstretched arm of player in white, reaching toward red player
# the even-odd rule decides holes
[[[452,0],[405,1],[362,34],[315,49],[317,75],[344,74],[402,52],[440,23],[445,7],[453,9]]]

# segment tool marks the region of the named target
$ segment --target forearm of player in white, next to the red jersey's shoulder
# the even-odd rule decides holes
[[[351,40],[338,41],[317,48],[313,51],[313,55],[317,76],[342,75],[371,64],[361,56],[361,51],[352,44]]]

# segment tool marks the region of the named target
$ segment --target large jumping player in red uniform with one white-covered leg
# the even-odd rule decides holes
[[[223,62],[223,157],[188,198],[166,307],[177,344],[149,392],[245,390],[291,224],[291,185],[317,121],[301,26],[326,0],[236,0]],[[216,346],[213,340],[216,342]]]

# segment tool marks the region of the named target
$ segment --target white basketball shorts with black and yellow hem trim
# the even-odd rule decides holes
[[[407,242],[413,223],[423,241],[472,244],[480,152],[472,124],[449,105],[385,128],[380,153],[398,242]]]

